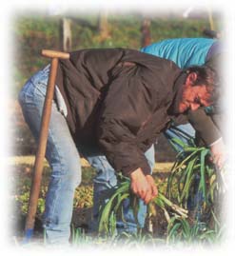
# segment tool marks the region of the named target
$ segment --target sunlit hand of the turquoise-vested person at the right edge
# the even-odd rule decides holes
[[[210,151],[212,154],[212,161],[219,168],[222,168],[225,164],[225,145],[223,139],[215,142],[210,146]]]

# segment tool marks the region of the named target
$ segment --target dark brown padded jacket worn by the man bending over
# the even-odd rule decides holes
[[[56,85],[79,148],[100,148],[116,170],[150,173],[145,151],[166,128],[186,74],[132,49],[84,49],[61,60]]]

